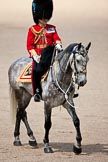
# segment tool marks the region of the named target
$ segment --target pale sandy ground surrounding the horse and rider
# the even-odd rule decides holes
[[[68,3],[67,3],[68,2]],[[26,35],[33,24],[31,1],[10,0],[0,5],[0,162],[107,162],[108,161],[108,1],[54,0],[54,16],[64,48],[72,42],[92,42],[89,51],[88,83],[75,99],[81,121],[83,152],[72,152],[75,129],[62,107],[53,109],[50,142],[53,154],[43,152],[43,102],[31,100],[27,108],[30,125],[39,147],[28,145],[24,125],[21,125],[22,147],[13,146],[14,126],[11,124],[8,77],[10,64],[28,55]]]

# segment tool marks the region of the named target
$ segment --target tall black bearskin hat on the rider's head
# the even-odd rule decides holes
[[[32,15],[33,20],[38,24],[39,19],[48,19],[52,17],[53,1],[52,0],[33,0],[32,2]]]

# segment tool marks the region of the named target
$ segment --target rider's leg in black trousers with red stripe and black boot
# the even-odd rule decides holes
[[[35,101],[40,101],[39,95],[42,95],[41,76],[49,69],[53,55],[54,46],[46,47],[40,58],[40,62],[33,61],[32,64],[32,87]]]

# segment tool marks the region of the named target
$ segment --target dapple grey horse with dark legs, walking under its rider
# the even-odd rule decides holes
[[[76,114],[73,102],[75,83],[84,86],[87,82],[87,62],[89,60],[88,51],[91,42],[87,46],[82,43],[70,44],[62,52],[58,53],[49,69],[49,73],[44,82],[42,82],[42,100],[44,101],[45,114],[45,135],[44,152],[52,153],[53,149],[49,146],[49,130],[51,128],[52,108],[62,105],[70,114],[76,128],[76,143],[73,151],[76,154],[82,152],[80,120]],[[36,146],[37,141],[33,135],[28,120],[26,108],[32,98],[31,83],[16,82],[22,69],[32,61],[29,57],[22,57],[13,62],[8,71],[10,85],[11,111],[15,116],[14,145],[20,146],[20,123],[24,122],[29,136],[29,144]]]

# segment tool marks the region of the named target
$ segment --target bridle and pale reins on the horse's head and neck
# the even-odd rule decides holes
[[[87,51],[88,52],[88,51]],[[69,98],[69,92],[71,92],[71,90],[72,90],[72,86],[73,86],[73,84],[72,84],[72,81],[73,82],[75,82],[76,80],[77,80],[77,77],[78,77],[78,75],[80,74],[80,73],[83,73],[83,74],[86,74],[86,68],[84,68],[84,69],[82,69],[82,70],[80,70],[80,71],[78,71],[78,69],[77,69],[77,65],[76,65],[76,54],[77,55],[82,55],[81,53],[80,53],[80,50],[78,50],[78,45],[76,45],[73,49],[72,49],[72,51],[71,51],[71,56],[69,56],[69,58],[68,58],[68,61],[67,61],[67,65],[66,65],[66,68],[65,68],[65,70],[62,68],[62,66],[61,66],[61,64],[60,64],[60,61],[55,61],[50,67],[51,67],[51,76],[52,76],[52,82],[54,83],[54,85],[56,86],[56,88],[58,89],[58,90],[60,90],[63,94],[64,94],[64,97],[65,97],[65,101],[67,101],[67,103],[72,107],[72,108],[75,108],[75,106],[73,105],[73,104],[71,104],[70,102],[69,102],[69,100],[68,100],[68,98]],[[73,56],[72,56],[73,55]],[[70,57],[72,57],[72,60],[70,61]],[[84,57],[84,56],[83,56]],[[62,57],[61,58],[63,58],[63,55],[62,55]],[[54,59],[54,58],[53,58]],[[70,66],[72,66],[72,64],[74,65],[74,77],[75,77],[75,79],[71,79],[70,80],[70,83],[69,83],[69,85],[68,85],[68,87],[67,87],[67,89],[66,90],[64,90],[62,87],[61,87],[61,85],[60,85],[60,83],[59,83],[59,81],[58,81],[58,79],[57,79],[57,76],[56,76],[56,69],[54,68],[54,65],[55,65],[55,67],[56,67],[56,63],[58,62],[58,64],[59,64],[59,68],[60,68],[60,70],[61,70],[61,72],[62,73],[65,73],[66,72],[66,70],[67,70],[67,68],[68,68],[68,66],[69,66],[69,64],[70,64]],[[53,71],[54,71],[54,75],[53,75]],[[64,101],[64,102],[65,102]]]

